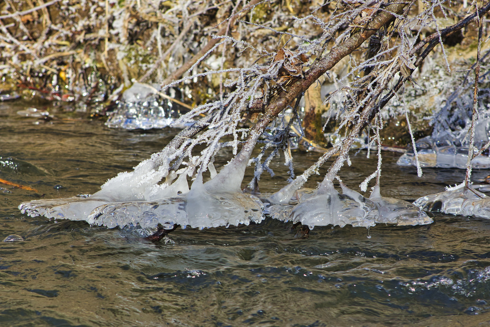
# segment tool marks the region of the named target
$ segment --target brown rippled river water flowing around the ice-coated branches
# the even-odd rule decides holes
[[[0,178],[47,199],[96,192],[177,132],[108,129],[51,109],[56,119],[46,123],[17,115],[23,108],[0,104]],[[357,190],[376,166],[365,154],[341,172]],[[319,154],[294,156],[301,172]],[[230,157],[222,151],[217,168]],[[464,176],[425,169],[417,178],[397,157],[384,153],[385,196],[413,201]],[[262,191],[284,185],[287,167],[274,169]],[[371,227],[370,239],[366,228],[328,226],[295,239],[291,223],[266,219],[177,229],[154,245],[136,231],[27,217],[17,205],[35,192],[0,187],[0,239],[24,239],[0,244],[0,326],[490,325],[489,220],[436,215],[428,226]]]

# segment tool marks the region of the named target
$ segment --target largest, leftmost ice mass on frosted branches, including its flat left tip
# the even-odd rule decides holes
[[[31,217],[44,215],[48,218],[86,220],[89,224],[110,228],[137,225],[148,228],[161,224],[171,229],[177,224],[182,228],[191,226],[202,229],[260,223],[264,210],[262,202],[240,189],[250,153],[251,150],[242,149],[217,175],[214,175],[214,166],[210,164],[208,167],[212,167],[210,170],[214,177],[203,183],[201,170],[190,190],[187,170],[183,170],[174,181],[175,174],[160,172],[165,169],[164,166],[151,172],[148,167],[146,170],[140,167],[142,164],[145,166],[143,162],[134,172],[121,173],[111,179],[101,191],[90,197],[23,202],[19,209]],[[148,160],[147,164],[151,164],[151,161]],[[167,176],[167,180],[158,185],[163,176]],[[129,177],[133,179],[128,180]],[[129,186],[129,191],[124,193],[123,186]]]

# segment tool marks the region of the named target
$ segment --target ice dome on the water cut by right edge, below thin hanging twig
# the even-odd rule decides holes
[[[444,192],[418,198],[414,204],[422,210],[490,218],[490,198],[471,185],[466,187],[464,182]]]

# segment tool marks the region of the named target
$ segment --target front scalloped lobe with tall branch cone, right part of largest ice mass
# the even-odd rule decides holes
[[[191,190],[185,195],[174,196],[175,192],[179,192],[177,190],[184,194],[182,190],[187,187],[185,174],[181,174],[177,181],[159,193],[172,197],[156,201],[105,204],[96,208],[87,221],[108,227],[139,224],[146,228],[162,224],[168,229],[174,224],[182,228],[191,226],[202,229],[248,225],[250,221],[260,223],[264,210],[262,202],[253,195],[244,194],[240,188],[250,153],[242,150],[206,183],[202,182],[200,172]]]

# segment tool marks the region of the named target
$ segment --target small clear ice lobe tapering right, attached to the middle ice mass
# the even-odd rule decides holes
[[[378,207],[379,217],[376,223],[415,226],[434,222],[425,212],[410,202],[382,197],[378,184],[374,186],[369,200]]]

